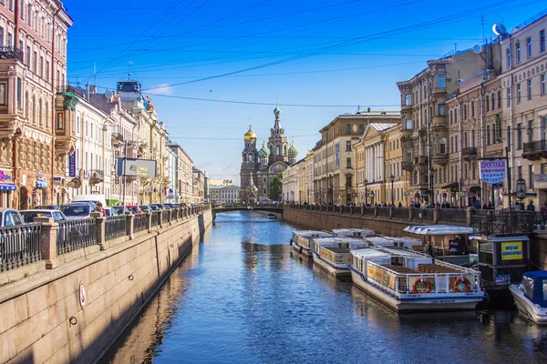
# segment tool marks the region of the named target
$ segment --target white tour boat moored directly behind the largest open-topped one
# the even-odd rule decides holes
[[[358,238],[314,238],[312,240],[314,264],[335,277],[350,277],[351,250],[367,246],[364,240]]]

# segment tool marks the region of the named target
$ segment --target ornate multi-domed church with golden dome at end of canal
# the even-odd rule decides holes
[[[270,137],[260,149],[256,148],[256,134],[253,126],[243,136],[243,162],[240,172],[241,199],[243,202],[268,200],[270,184],[280,172],[296,163],[298,150],[294,143],[288,145],[284,128],[281,127],[281,108],[274,108],[274,127],[270,129]]]

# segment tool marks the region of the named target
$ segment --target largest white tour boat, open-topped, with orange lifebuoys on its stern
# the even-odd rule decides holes
[[[357,288],[398,312],[474,309],[483,298],[480,271],[405,248],[351,251]]]

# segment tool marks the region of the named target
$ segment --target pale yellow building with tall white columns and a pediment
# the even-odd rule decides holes
[[[408,206],[408,176],[403,171],[398,124],[372,123],[352,147],[356,159],[356,203]]]

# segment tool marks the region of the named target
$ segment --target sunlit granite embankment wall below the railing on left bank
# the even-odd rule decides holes
[[[0,286],[0,363],[96,361],[211,224],[208,209]]]

